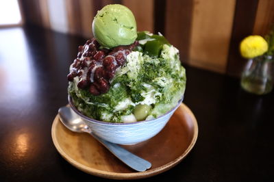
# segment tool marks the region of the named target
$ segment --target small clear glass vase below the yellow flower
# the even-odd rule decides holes
[[[273,89],[273,57],[259,56],[248,60],[241,77],[241,86],[253,94],[267,94]]]

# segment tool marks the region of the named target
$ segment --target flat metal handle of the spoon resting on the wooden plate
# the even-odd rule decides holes
[[[119,158],[123,163],[127,164],[130,168],[137,170],[138,172],[143,172],[149,168],[151,168],[151,163],[145,159],[142,159],[138,157],[137,155],[134,155],[133,153],[130,153],[129,151],[125,150],[125,148],[122,148],[121,146],[110,143],[108,141],[105,141],[97,135],[90,133],[94,138],[96,138],[103,146],[108,148],[112,154],[114,154],[117,158]]]

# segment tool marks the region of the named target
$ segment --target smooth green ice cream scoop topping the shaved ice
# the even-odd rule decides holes
[[[106,48],[132,44],[137,38],[136,21],[124,5],[106,5],[97,12],[92,23],[93,35]]]

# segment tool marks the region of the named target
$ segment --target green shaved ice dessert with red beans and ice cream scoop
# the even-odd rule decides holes
[[[70,66],[69,96],[79,112],[105,122],[158,118],[184,96],[179,51],[162,34],[137,32],[132,12],[107,5],[92,23],[94,38]]]

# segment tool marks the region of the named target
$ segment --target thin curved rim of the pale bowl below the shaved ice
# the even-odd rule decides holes
[[[88,120],[88,122],[97,122],[99,124],[103,124],[103,125],[136,125],[136,124],[142,124],[144,122],[151,122],[153,120],[158,120],[159,118],[162,118],[168,114],[170,114],[171,112],[173,112],[175,109],[177,109],[179,107],[179,105],[181,105],[182,101],[184,100],[184,94],[182,96],[182,99],[179,99],[177,105],[175,105],[175,107],[173,107],[172,109],[170,109],[168,112],[166,112],[165,114],[163,114],[162,116],[159,116],[158,118],[154,118],[151,120],[140,120],[140,121],[136,121],[136,122],[107,122],[107,121],[101,121],[101,120],[95,120],[92,118],[89,118],[88,116],[85,116],[84,114],[82,114],[81,112],[78,111],[78,109],[75,107],[75,105],[73,104],[73,100],[71,98],[70,95],[68,95],[68,100],[69,100],[69,105],[71,106],[71,109],[73,109],[73,111],[78,114],[80,117]]]

